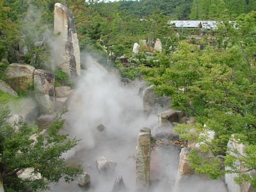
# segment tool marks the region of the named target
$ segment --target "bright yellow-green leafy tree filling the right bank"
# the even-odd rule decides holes
[[[196,173],[207,173],[214,179],[224,173],[237,173],[238,183],[248,181],[253,188],[256,177],[250,171],[256,170],[252,161],[256,158],[255,19],[256,13],[251,12],[237,17],[235,24],[223,24],[218,33],[225,33],[225,39],[221,37],[222,43],[227,44],[225,49],[207,47],[200,51],[194,45],[180,42],[170,61],[160,60],[159,67],[143,67],[142,71],[145,79],[156,85],[157,92],[173,98],[173,108],[196,116],[198,124],[179,124],[177,129],[182,138],[204,142],[202,150],[211,150],[215,155],[204,159],[196,151],[191,153],[191,166]],[[196,131],[190,132],[192,128]],[[216,133],[214,140],[200,136],[207,130]],[[247,146],[245,156],[227,148],[232,135]],[[230,170],[222,169],[218,155],[225,156],[224,164]],[[243,164],[243,172],[234,166],[236,161]]]

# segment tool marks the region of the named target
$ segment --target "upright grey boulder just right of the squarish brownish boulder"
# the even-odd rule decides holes
[[[53,113],[55,110],[54,74],[47,70],[35,70],[35,98],[40,112]]]

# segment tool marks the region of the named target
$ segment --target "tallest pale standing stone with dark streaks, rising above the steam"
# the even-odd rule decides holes
[[[66,6],[55,4],[54,33],[58,35],[56,65],[69,76],[80,75],[80,49],[72,13]]]

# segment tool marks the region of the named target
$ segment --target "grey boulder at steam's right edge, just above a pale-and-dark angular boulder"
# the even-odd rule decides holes
[[[168,109],[170,108],[170,104],[170,97],[164,97],[154,93],[154,85],[148,86],[143,91],[143,109],[147,113],[151,113],[159,108]]]

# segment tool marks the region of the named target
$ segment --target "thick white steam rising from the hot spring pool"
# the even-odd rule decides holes
[[[134,152],[141,127],[149,127],[152,134],[159,131],[157,114],[143,114],[142,99],[138,95],[140,84],[124,87],[116,72],[107,72],[92,56],[82,54],[86,62],[83,76],[68,104],[65,129],[72,136],[81,139],[79,146],[65,157],[72,164],[82,164],[89,173],[92,186],[89,192],[111,191],[117,175],[122,175],[127,191],[136,191]],[[106,129],[99,132],[98,125]],[[160,130],[161,131],[161,130]],[[166,131],[164,129],[164,131]],[[117,163],[115,172],[100,175],[95,160],[105,156]],[[152,186],[146,191],[226,191],[220,180],[204,180],[191,176],[182,180],[175,188],[179,165],[179,148],[168,145],[154,148],[151,157]],[[80,191],[64,182],[52,188],[53,191]]]

